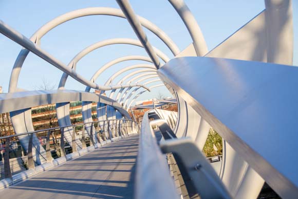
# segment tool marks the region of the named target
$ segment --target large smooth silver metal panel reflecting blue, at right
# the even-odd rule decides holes
[[[298,193],[294,164],[283,164],[295,146],[296,67],[189,57],[171,60],[158,74],[278,194]],[[268,138],[270,142],[258,141]]]

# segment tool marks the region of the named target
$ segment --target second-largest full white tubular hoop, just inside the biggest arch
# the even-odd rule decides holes
[[[104,41],[97,42],[95,44],[92,44],[88,46],[87,48],[83,49],[81,52],[79,52],[74,58],[69,62],[68,67],[72,68],[73,70],[77,69],[77,63],[88,53],[99,49],[103,46],[108,46],[108,45],[114,45],[114,44],[128,44],[128,45],[135,45],[139,47],[143,47],[140,41],[138,40],[133,40],[133,39],[127,39],[127,38],[115,38],[115,39],[108,39]],[[165,63],[168,62],[170,59],[159,49],[153,47],[154,50],[157,52],[158,57],[160,57]],[[65,86],[65,83],[67,81],[68,74],[64,73],[60,79],[59,83],[59,89],[63,89]]]

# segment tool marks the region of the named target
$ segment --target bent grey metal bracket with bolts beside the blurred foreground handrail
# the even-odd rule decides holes
[[[231,198],[206,157],[191,139],[161,141],[160,149],[163,153],[173,153],[179,159],[201,198]]]

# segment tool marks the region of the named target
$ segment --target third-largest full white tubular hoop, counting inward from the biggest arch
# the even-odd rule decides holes
[[[152,60],[150,58],[148,58],[148,57],[145,57],[145,56],[125,56],[125,57],[117,58],[117,59],[115,59],[113,61],[110,61],[110,62],[106,63],[99,70],[97,70],[96,73],[91,77],[90,81],[91,82],[95,82],[96,79],[100,76],[100,74],[103,73],[103,71],[105,71],[107,68],[109,68],[109,67],[111,67],[111,66],[113,66],[115,64],[118,64],[120,62],[128,61],[128,60],[141,60],[141,61],[147,61],[147,62],[151,62],[152,63]],[[137,84],[137,85],[128,84],[128,85],[130,85],[130,86],[127,86],[127,87],[140,86],[140,84]],[[121,88],[121,87],[124,87],[124,86],[118,86],[117,88]],[[142,85],[142,87],[143,87],[143,85]],[[91,89],[91,87],[87,86],[86,89],[85,89],[85,91],[86,92],[90,92],[90,89]]]

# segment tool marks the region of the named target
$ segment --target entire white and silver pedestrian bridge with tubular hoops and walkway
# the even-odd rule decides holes
[[[14,130],[0,137],[0,198],[257,198],[264,183],[283,198],[297,198],[298,69],[293,66],[291,1],[266,0],[262,12],[210,51],[187,5],[169,2],[193,40],[181,51],[159,27],[136,15],[126,0],[117,0],[120,9],[65,13],[31,38],[0,21],[0,32],[24,47],[12,68],[9,92],[0,94],[0,113],[9,113]],[[126,18],[139,41],[97,42],[68,65],[40,47],[50,30],[88,15]],[[173,58],[150,44],[144,27]],[[89,52],[114,44],[143,47],[149,57],[110,61],[90,80],[76,72]],[[63,72],[57,90],[18,87],[29,52]],[[152,65],[127,66],[104,85],[96,83],[105,70],[127,60]],[[112,84],[127,71],[132,72]],[[69,76],[85,85],[85,91],[66,89]],[[149,87],[152,82],[161,84]],[[153,108],[141,122],[128,113],[140,95],[161,85],[176,97],[178,112]],[[82,102],[81,123],[71,123],[73,101]],[[94,102],[97,118],[92,118]],[[59,126],[35,130],[31,108],[48,104],[55,104]],[[202,153],[211,127],[222,137],[223,156],[216,162]],[[22,158],[10,158],[15,142],[25,151]]]

